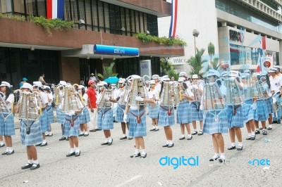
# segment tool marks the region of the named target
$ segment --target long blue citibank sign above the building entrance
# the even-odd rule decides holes
[[[123,46],[94,45],[94,53],[116,56],[139,56],[139,49]]]

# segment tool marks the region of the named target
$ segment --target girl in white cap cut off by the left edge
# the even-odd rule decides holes
[[[4,101],[8,110],[13,107],[14,96],[10,89],[11,84],[8,82],[1,82],[0,91],[3,93],[1,100]],[[0,136],[4,136],[6,142],[6,151],[2,155],[11,155],[14,153],[12,138],[15,135],[15,127],[13,122],[13,111],[0,112]],[[5,146],[5,145],[4,145]]]

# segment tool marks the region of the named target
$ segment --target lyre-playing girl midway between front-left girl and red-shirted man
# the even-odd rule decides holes
[[[70,108],[73,108],[73,110],[70,110]],[[66,86],[63,89],[63,98],[60,105],[60,110],[65,117],[63,120],[63,136],[69,138],[71,147],[71,150],[66,157],[80,156],[78,135],[80,134],[79,114],[82,112],[82,108],[83,105],[80,102],[80,99],[75,95],[74,87],[71,85]]]

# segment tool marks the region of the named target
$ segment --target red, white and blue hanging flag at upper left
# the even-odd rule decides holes
[[[63,20],[64,0],[47,0],[47,19]]]

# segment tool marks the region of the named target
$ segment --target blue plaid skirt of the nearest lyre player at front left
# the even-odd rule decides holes
[[[20,139],[23,146],[32,146],[37,143],[42,143],[42,133],[39,121],[29,121],[30,134],[26,134],[27,120],[20,120]]]

